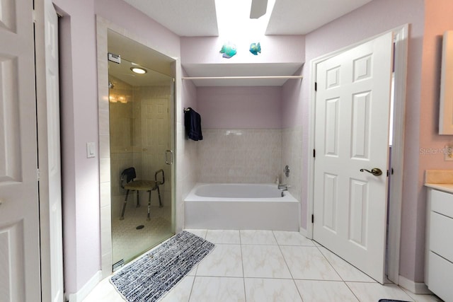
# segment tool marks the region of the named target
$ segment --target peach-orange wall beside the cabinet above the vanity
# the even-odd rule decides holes
[[[453,30],[453,2],[451,0],[425,0],[425,35],[423,37],[422,79],[420,93],[420,149],[443,149],[452,144],[453,137],[438,135],[440,71],[442,62],[442,35]],[[418,151],[418,150],[417,150]],[[419,153],[418,198],[413,202],[416,219],[409,221],[417,230],[415,239],[415,261],[424,260],[426,192],[424,172],[428,169],[453,169],[452,161],[444,161],[444,154]],[[423,267],[416,267],[416,276],[423,274]],[[419,278],[420,279],[420,278]]]

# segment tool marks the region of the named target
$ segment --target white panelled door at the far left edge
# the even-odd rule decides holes
[[[0,12],[0,300],[41,301],[33,1]]]

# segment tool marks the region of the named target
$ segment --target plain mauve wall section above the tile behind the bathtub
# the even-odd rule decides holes
[[[205,129],[280,129],[282,88],[198,87],[198,112]]]

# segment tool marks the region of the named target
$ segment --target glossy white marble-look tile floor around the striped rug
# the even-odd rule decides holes
[[[297,232],[187,230],[216,247],[161,301],[441,301],[382,286]],[[107,279],[84,302],[122,302]]]

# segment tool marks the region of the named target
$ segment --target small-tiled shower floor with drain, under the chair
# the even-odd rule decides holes
[[[126,209],[124,220],[112,218],[112,263],[129,262],[174,235],[170,207],[151,207],[150,218],[147,221],[147,205]]]

